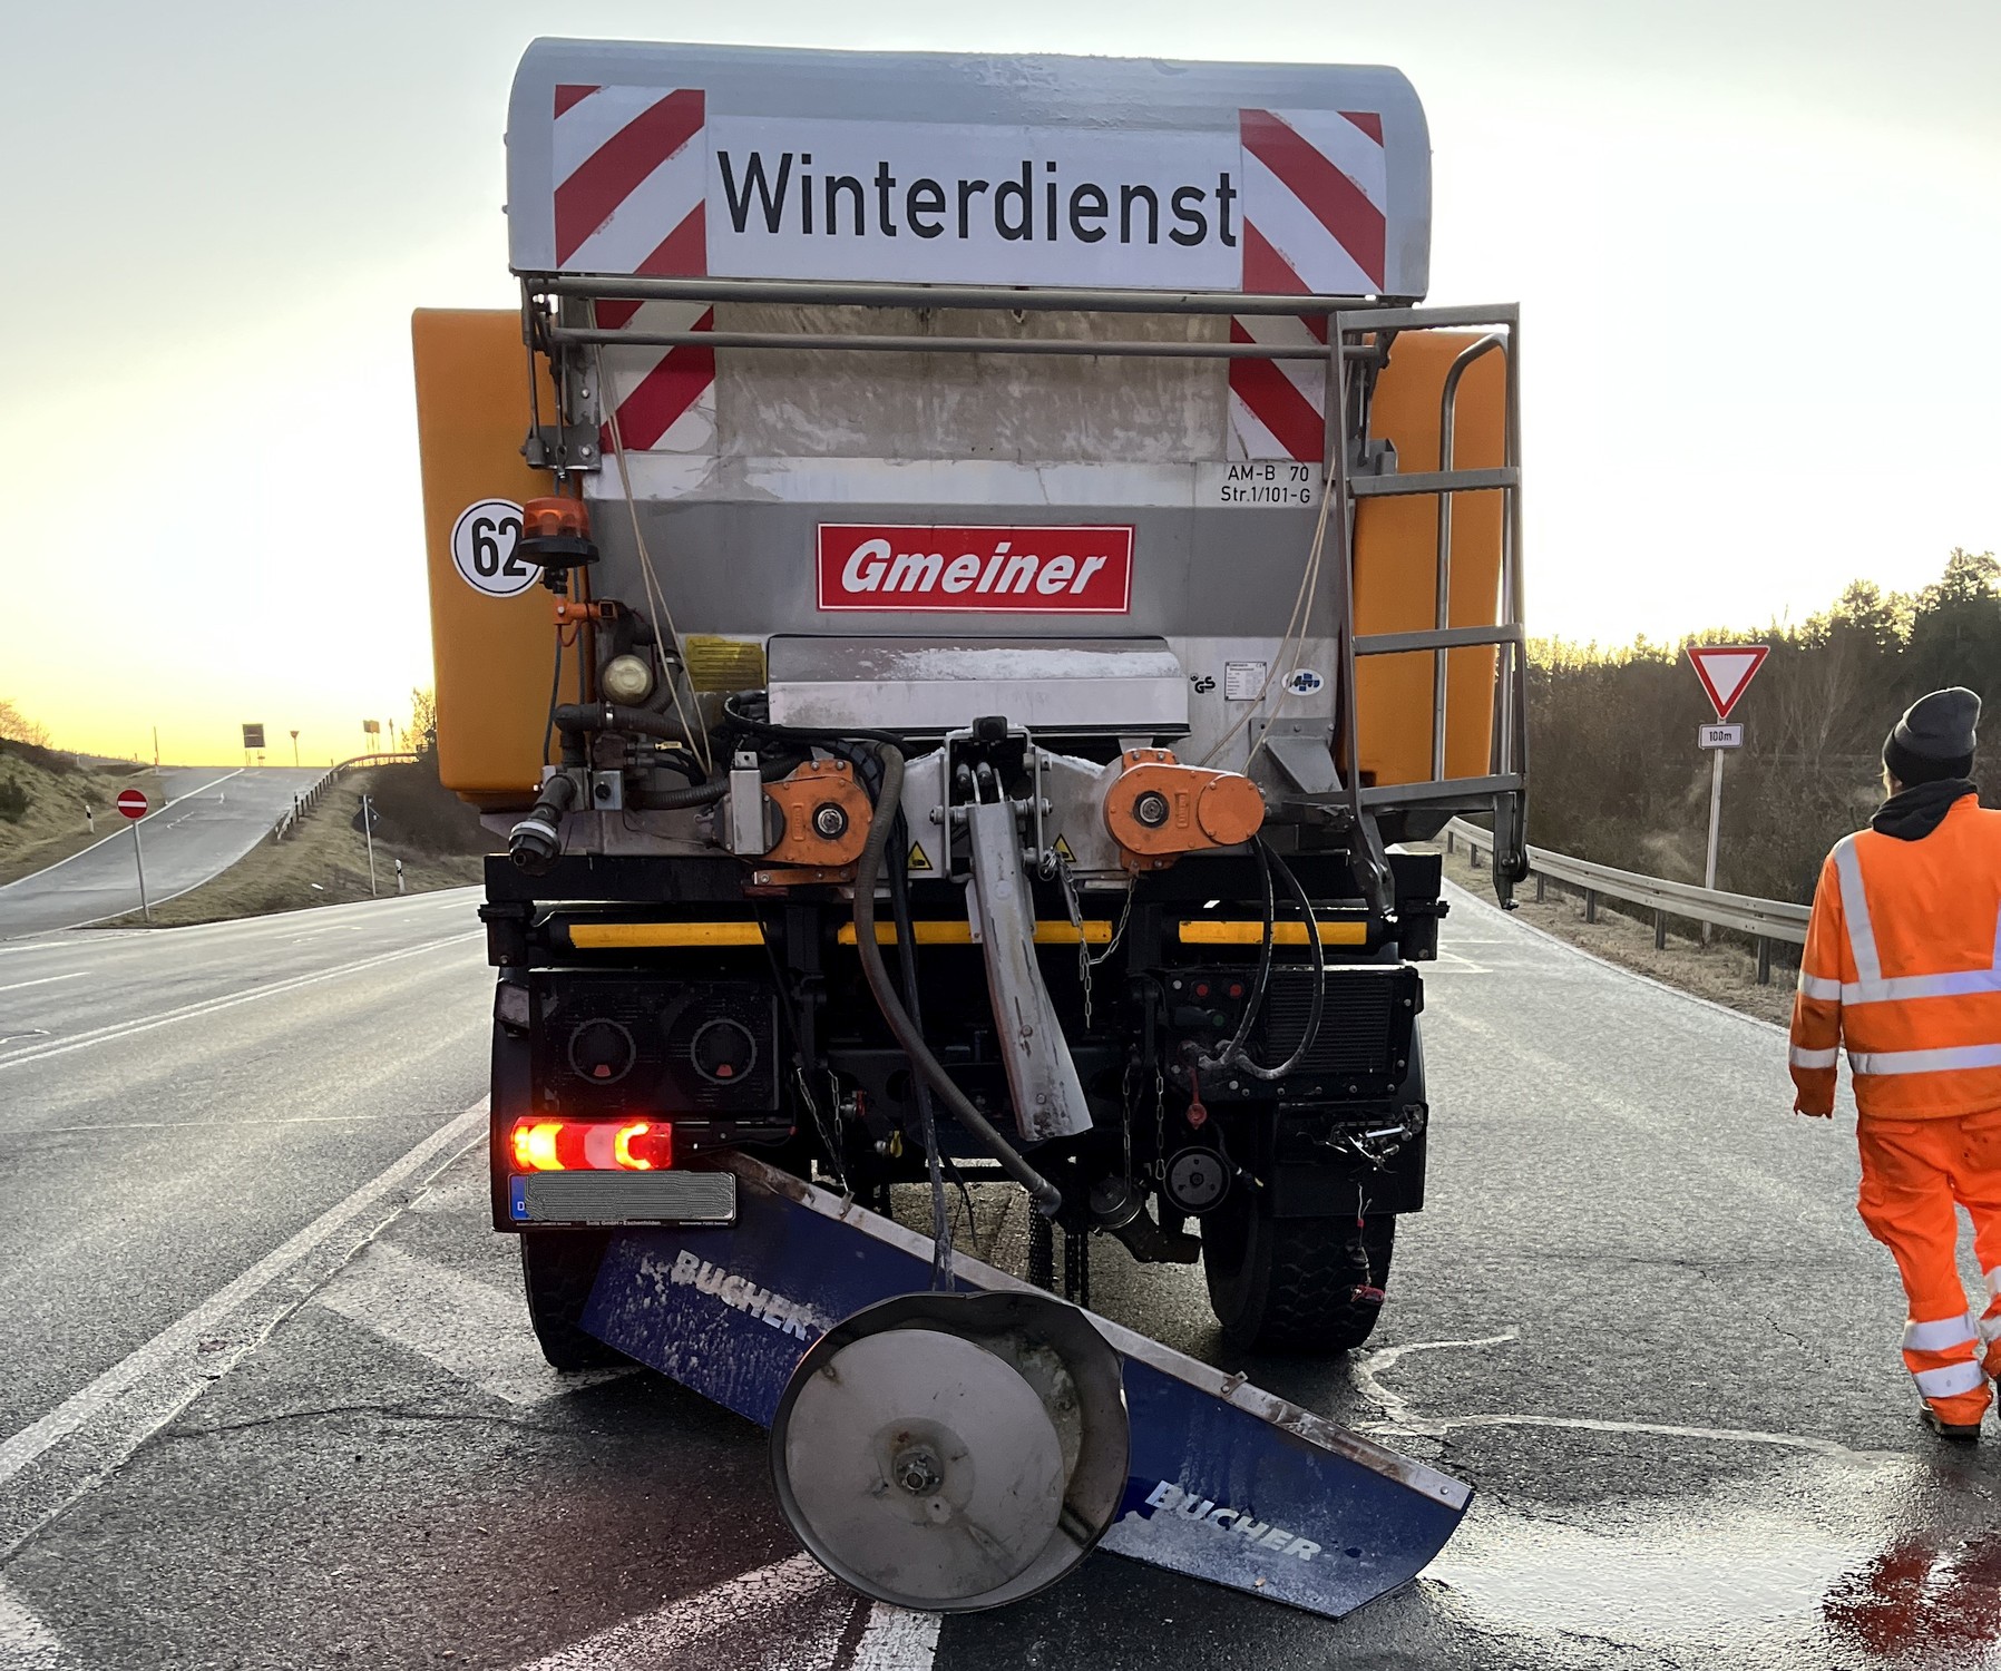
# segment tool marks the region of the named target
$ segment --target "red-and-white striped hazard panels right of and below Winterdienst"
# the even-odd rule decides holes
[[[1239,110],[1243,288],[1261,296],[1383,290],[1389,184],[1383,118]],[[1233,342],[1315,346],[1325,318],[1239,316]],[[1319,460],[1327,374],[1317,360],[1231,360],[1231,456]]]

